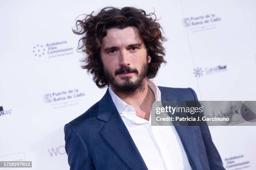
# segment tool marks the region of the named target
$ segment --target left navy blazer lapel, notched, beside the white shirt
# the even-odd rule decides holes
[[[100,130],[100,135],[128,168],[131,170],[147,170],[146,164],[121,119],[108,90],[99,102],[97,118],[106,122]]]

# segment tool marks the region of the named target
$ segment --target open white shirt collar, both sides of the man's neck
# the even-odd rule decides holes
[[[161,91],[159,90],[159,88],[155,85],[155,83],[152,80],[148,79],[147,82],[148,82],[148,86],[154,92],[156,101],[161,101]],[[110,93],[110,96],[111,96],[114,104],[115,104],[115,107],[118,110],[118,113],[121,114],[121,112],[123,111],[125,106],[127,106],[128,104],[126,102],[124,102],[123,100],[121,100],[118,97],[118,95],[116,95],[115,92],[113,92],[111,86],[108,87],[108,91]]]

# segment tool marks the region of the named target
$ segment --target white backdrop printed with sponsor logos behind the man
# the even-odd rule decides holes
[[[2,0],[0,160],[33,161],[34,170],[69,169],[64,125],[106,90],[80,68],[72,27],[78,15],[105,6],[155,9],[161,18],[167,64],[157,85],[192,87],[199,100],[256,100],[254,0]],[[210,131],[228,170],[256,169],[255,127]]]

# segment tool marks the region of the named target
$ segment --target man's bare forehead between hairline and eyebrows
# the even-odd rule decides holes
[[[131,45],[141,43],[139,31],[135,27],[126,27],[123,29],[110,28],[107,35],[102,40],[102,46]]]

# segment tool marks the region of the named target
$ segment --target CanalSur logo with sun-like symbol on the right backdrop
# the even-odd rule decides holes
[[[220,73],[227,71],[227,65],[217,65],[215,67],[196,67],[193,70],[193,74],[195,77],[202,77],[203,75],[210,75],[210,74],[215,74],[215,73]]]

